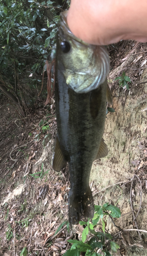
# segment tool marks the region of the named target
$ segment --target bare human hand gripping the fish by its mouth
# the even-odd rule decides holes
[[[75,36],[93,45],[147,41],[146,0],[71,0],[67,22]]]

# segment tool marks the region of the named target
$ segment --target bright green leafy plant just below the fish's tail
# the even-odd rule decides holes
[[[111,256],[109,251],[107,250],[108,245],[111,247],[111,251],[116,252],[120,246],[112,241],[111,234],[107,233],[105,230],[106,222],[104,221],[103,217],[111,216],[112,218],[120,218],[121,211],[118,207],[113,206],[109,203],[105,203],[103,206],[95,205],[95,215],[94,218],[91,220],[88,219],[87,222],[80,221],[80,225],[85,225],[85,228],[82,232],[82,241],[77,240],[68,240],[69,243],[72,243],[71,249],[67,250],[63,255],[64,256],[79,256],[81,251],[86,252],[86,256],[102,256],[97,251],[100,249],[103,255]],[[102,231],[103,232],[96,232],[94,227],[97,225],[99,220],[102,221]],[[94,234],[94,236],[85,243],[87,235],[90,233]],[[107,242],[106,242],[107,240]]]

